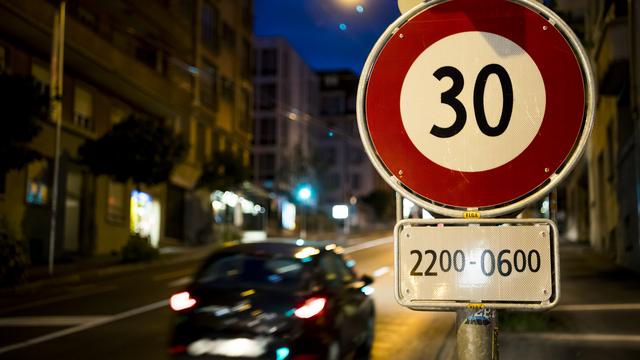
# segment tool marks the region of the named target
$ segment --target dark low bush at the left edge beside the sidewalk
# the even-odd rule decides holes
[[[24,282],[28,266],[26,243],[11,236],[0,235],[0,287]]]

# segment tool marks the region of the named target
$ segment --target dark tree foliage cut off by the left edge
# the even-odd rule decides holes
[[[31,77],[0,74],[0,176],[20,169],[40,153],[29,143],[49,114],[49,95]]]

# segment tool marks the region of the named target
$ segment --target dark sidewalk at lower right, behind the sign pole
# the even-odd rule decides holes
[[[500,314],[501,359],[640,359],[640,274],[561,242],[560,303],[543,313]],[[439,360],[456,359],[455,332]]]

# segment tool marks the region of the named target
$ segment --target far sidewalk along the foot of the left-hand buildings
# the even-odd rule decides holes
[[[347,237],[345,245],[364,241],[372,236],[389,235],[390,231],[371,231],[354,233]],[[310,239],[331,239],[331,236],[319,234],[309,236]],[[335,238],[335,236],[333,236]],[[0,288],[0,296],[4,294],[32,291],[43,286],[56,286],[62,284],[84,283],[95,279],[106,278],[118,274],[138,271],[148,268],[163,267],[185,262],[195,262],[205,259],[212,251],[220,247],[220,244],[200,246],[170,246],[160,248],[160,258],[150,262],[123,263],[120,256],[101,255],[73,262],[54,265],[54,273],[49,275],[47,265],[36,265],[29,268],[27,281],[15,288]]]

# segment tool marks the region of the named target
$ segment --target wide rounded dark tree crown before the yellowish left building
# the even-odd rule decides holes
[[[186,141],[161,121],[131,115],[98,140],[88,140],[80,156],[94,174],[154,185],[169,179],[187,148]]]

